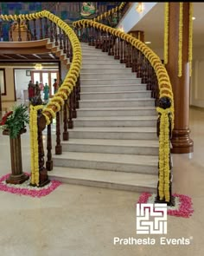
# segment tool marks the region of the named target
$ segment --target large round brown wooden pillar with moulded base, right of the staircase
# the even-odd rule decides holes
[[[166,65],[175,102],[175,128],[171,139],[171,152],[175,154],[186,154],[194,150],[189,129],[189,3],[182,4],[182,75],[178,76],[180,3],[169,3],[169,47]]]

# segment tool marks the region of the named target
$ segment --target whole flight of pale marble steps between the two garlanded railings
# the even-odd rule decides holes
[[[158,139],[155,100],[146,85],[113,56],[81,43],[77,118],[51,180],[156,192]]]

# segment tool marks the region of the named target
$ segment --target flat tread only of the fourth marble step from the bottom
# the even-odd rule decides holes
[[[68,129],[69,132],[121,132],[121,133],[156,133],[156,127],[74,127],[73,129]]]

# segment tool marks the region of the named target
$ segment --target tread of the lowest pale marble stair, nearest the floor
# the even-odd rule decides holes
[[[85,181],[100,181],[108,183],[117,183],[130,186],[148,186],[156,187],[157,175],[155,174],[137,174],[123,173],[114,171],[104,171],[96,169],[83,169],[73,167],[54,167],[54,170],[49,173],[49,176],[78,179]]]

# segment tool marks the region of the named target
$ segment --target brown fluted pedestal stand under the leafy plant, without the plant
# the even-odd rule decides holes
[[[22,182],[29,180],[29,176],[22,173],[21,135],[24,133],[26,133],[26,128],[23,128],[20,135],[17,135],[15,139],[10,138],[10,160],[12,174],[10,174],[10,177],[6,180],[6,183],[22,184]],[[10,135],[10,131],[4,130],[3,135]]]

